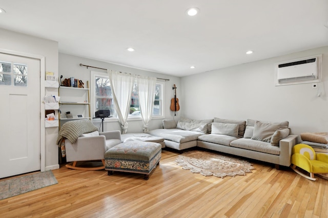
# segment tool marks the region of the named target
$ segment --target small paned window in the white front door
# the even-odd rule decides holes
[[[27,65],[0,61],[0,85],[27,86]]]

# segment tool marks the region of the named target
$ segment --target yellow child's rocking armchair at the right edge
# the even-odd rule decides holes
[[[318,153],[308,144],[296,144],[292,149],[292,169],[299,175],[315,181],[314,174],[328,179],[328,155]],[[301,168],[310,173],[310,176],[305,175],[299,169]]]

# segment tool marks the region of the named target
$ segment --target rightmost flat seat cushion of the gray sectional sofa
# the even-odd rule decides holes
[[[238,138],[230,143],[231,147],[247,149],[267,154],[279,155],[279,146],[271,146],[270,142],[258,141],[250,138]]]

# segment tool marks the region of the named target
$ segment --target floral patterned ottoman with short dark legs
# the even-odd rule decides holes
[[[161,145],[148,141],[127,141],[107,150],[105,153],[105,169],[108,175],[113,171],[149,174],[159,164]]]

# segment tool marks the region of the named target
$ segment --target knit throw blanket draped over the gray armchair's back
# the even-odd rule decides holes
[[[74,143],[81,134],[94,131],[98,131],[98,128],[89,119],[69,121],[60,128],[57,144],[59,146],[63,138],[67,138],[71,143]]]

